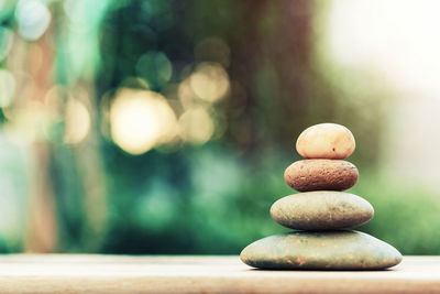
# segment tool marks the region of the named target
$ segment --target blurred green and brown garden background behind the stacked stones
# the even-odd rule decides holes
[[[0,0],[1,252],[233,253],[319,122],[361,230],[440,254],[437,1]]]

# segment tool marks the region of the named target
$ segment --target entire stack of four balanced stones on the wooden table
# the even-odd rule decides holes
[[[367,200],[342,192],[359,178],[358,168],[343,161],[354,148],[351,131],[336,123],[316,124],[299,135],[296,150],[306,160],[294,162],[284,177],[301,193],[271,207],[276,222],[296,231],[251,243],[240,254],[244,263],[277,270],[381,270],[402,261],[391,244],[348,230],[374,215]]]

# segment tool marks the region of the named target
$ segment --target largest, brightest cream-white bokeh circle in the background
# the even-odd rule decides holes
[[[165,98],[122,88],[110,108],[111,137],[130,154],[142,154],[176,137],[177,119]]]

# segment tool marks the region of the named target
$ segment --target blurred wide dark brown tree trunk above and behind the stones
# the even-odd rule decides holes
[[[248,31],[230,35],[230,74],[249,101],[243,116],[230,119],[228,133],[239,143],[242,133],[251,133],[243,148],[267,141],[292,145],[306,126],[334,113],[332,94],[314,65],[314,1],[245,3],[241,19]]]

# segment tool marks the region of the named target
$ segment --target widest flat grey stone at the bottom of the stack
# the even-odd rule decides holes
[[[297,231],[257,240],[240,254],[251,266],[277,270],[381,270],[402,261],[391,244],[360,231]]]

